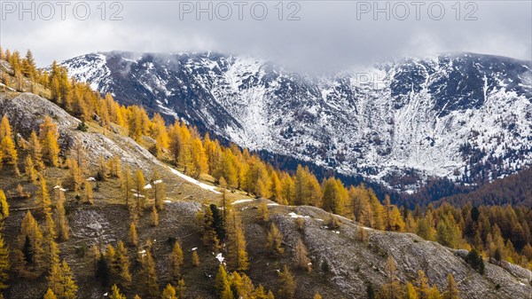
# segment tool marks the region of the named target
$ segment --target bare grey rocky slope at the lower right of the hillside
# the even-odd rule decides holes
[[[305,221],[304,232],[298,232],[295,216],[288,212],[271,216],[286,244],[294,246],[302,238],[313,268],[320,271],[320,264],[326,260],[331,281],[345,297],[365,298],[369,282],[377,288],[387,283],[387,256],[394,257],[401,281],[415,281],[422,270],[431,285],[443,290],[447,275],[452,273],[462,298],[528,298],[532,292],[532,271],[515,264],[499,266],[485,261],[485,274],[481,275],[465,264],[463,250],[446,248],[411,233],[375,231],[340,217],[340,228],[331,229],[323,221],[328,216],[323,210],[295,207],[293,213]],[[357,240],[357,230],[366,230],[367,241]]]

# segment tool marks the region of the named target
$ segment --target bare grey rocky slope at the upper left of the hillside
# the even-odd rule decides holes
[[[61,154],[65,155],[75,139],[82,141],[87,152],[90,165],[96,165],[99,155],[109,159],[118,156],[121,162],[132,168],[142,168],[150,171],[159,161],[142,146],[131,138],[106,131],[106,135],[94,132],[76,130],[81,122],[74,116],[67,114],[61,107],[51,101],[32,93],[22,93],[10,98],[8,94],[0,94],[0,114],[8,115],[12,127],[27,138],[32,130],[38,132],[39,125],[45,116],[50,116],[58,124],[59,145]]]

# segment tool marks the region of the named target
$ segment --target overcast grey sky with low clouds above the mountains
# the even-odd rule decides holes
[[[458,5],[381,1],[379,7],[373,1],[204,1],[201,7],[196,1],[122,1],[113,6],[107,2],[105,12],[100,3],[77,4],[74,10],[76,2],[70,2],[61,20],[56,2],[35,2],[35,20],[30,12],[20,20],[19,1],[3,1],[0,43],[19,51],[31,49],[40,66],[112,50],[221,51],[322,71],[446,51],[532,58],[528,0]],[[26,8],[31,4],[24,3]],[[87,6],[90,13],[85,13]],[[198,18],[200,8],[207,12]],[[383,11],[375,16],[378,8]]]

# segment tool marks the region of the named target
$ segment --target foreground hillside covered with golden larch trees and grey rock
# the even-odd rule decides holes
[[[281,171],[184,122],[166,126],[64,67],[37,69],[31,51],[0,51],[0,70],[6,298],[530,292],[515,265],[532,267],[527,208],[400,208],[364,185]]]

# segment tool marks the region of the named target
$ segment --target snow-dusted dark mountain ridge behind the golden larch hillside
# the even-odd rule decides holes
[[[532,161],[531,63],[473,53],[335,75],[212,52],[92,53],[61,63],[124,103],[253,150],[415,187],[483,182]]]

